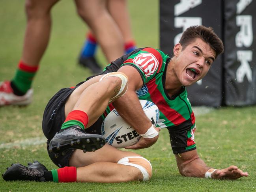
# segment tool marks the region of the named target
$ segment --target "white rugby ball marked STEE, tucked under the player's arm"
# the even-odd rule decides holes
[[[146,116],[156,126],[159,120],[158,107],[151,101],[139,101]],[[107,144],[116,148],[124,148],[136,144],[140,139],[140,134],[123,120],[116,109],[113,109],[104,119],[101,125],[101,134],[106,139]]]

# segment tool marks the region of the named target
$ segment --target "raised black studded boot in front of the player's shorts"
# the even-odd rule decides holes
[[[55,157],[60,154],[65,155],[68,149],[81,149],[84,151],[96,151],[106,144],[102,135],[88,134],[79,126],[71,126],[61,129],[50,140],[49,151],[55,153]]]

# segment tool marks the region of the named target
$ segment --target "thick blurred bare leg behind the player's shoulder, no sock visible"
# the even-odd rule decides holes
[[[108,62],[123,55],[121,32],[108,13],[106,0],[75,0],[80,17],[88,24]]]

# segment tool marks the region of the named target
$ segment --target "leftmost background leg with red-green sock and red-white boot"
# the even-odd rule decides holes
[[[58,0],[26,0],[27,25],[21,60],[11,81],[0,84],[0,106],[32,101],[32,81],[49,42],[50,9]]]

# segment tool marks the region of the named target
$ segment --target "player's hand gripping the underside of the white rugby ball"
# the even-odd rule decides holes
[[[159,127],[155,127],[155,129],[159,132],[161,130],[161,128]],[[151,145],[153,145],[155,142],[157,142],[158,136],[155,136],[154,138],[143,138],[141,137],[140,140],[138,140],[138,142],[134,145],[125,147],[125,149],[144,149],[144,148],[148,148]]]

